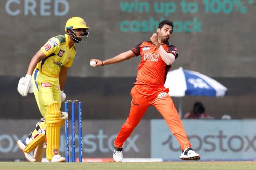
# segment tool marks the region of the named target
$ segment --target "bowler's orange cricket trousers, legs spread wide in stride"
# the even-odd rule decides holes
[[[135,85],[132,88],[130,113],[114,141],[116,147],[122,147],[150,105],[153,105],[163,116],[173,135],[178,140],[181,150],[191,147],[179,114],[168,92],[169,89],[164,86],[147,87]]]

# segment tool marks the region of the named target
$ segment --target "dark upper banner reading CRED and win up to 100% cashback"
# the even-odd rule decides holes
[[[0,32],[0,75],[22,76],[39,48],[52,36],[65,34],[66,21],[79,16],[90,27],[89,39],[77,45],[70,76],[136,76],[140,57],[97,71],[89,61],[150,40],[158,23],[168,19],[174,23],[170,44],[179,52],[174,68],[186,66],[215,77],[255,77],[256,48],[250,47],[255,46],[255,7],[254,0],[0,1],[5,30]]]

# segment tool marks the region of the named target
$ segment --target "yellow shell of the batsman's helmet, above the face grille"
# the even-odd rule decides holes
[[[90,27],[86,26],[86,22],[80,18],[80,17],[72,17],[69,18],[65,25],[65,31],[68,29],[78,29],[78,28],[84,28],[84,29],[90,29]]]

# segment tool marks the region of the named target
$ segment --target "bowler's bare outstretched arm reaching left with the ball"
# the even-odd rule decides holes
[[[90,61],[94,60],[96,61],[96,65],[94,65],[93,67],[97,67],[97,66],[104,66],[104,65],[109,65],[109,64],[115,64],[115,63],[119,63],[122,62],[124,60],[129,60],[132,57],[135,57],[136,55],[133,53],[132,50],[120,53],[118,55],[116,55],[115,57],[112,57],[110,59],[107,60],[98,60],[98,59],[91,59]]]

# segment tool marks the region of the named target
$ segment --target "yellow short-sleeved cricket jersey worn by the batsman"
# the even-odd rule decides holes
[[[36,69],[53,78],[59,76],[62,66],[71,67],[76,55],[75,45],[69,48],[67,34],[50,38],[41,51],[47,57],[37,64]]]

